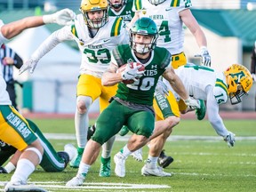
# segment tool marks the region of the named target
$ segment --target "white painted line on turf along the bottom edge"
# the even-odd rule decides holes
[[[0,186],[4,187],[4,184],[7,181],[0,181]],[[45,189],[61,189],[61,190],[81,190],[81,189],[145,189],[145,188],[172,188],[168,185],[152,185],[152,184],[132,184],[132,183],[102,183],[102,182],[91,182],[86,183],[84,182],[83,186],[77,187],[66,187],[65,182],[50,182],[50,181],[35,181],[35,182],[28,182],[29,185],[36,185],[38,188],[45,188]],[[3,190],[0,190],[3,191]]]

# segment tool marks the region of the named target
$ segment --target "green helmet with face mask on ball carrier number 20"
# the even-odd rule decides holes
[[[150,44],[138,44],[135,42],[135,35],[152,36]],[[151,52],[156,47],[156,39],[158,37],[157,26],[154,20],[142,17],[134,22],[130,29],[130,46],[134,52],[145,54]]]

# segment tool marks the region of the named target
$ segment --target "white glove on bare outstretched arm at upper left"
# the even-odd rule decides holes
[[[57,23],[59,25],[71,25],[76,18],[76,13],[70,9],[63,9],[53,14],[44,15],[44,23]]]

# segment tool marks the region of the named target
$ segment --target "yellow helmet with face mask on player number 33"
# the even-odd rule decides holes
[[[80,12],[84,16],[85,25],[89,28],[101,28],[108,22],[108,2],[107,0],[82,0]],[[89,14],[97,12],[102,17],[91,19]]]

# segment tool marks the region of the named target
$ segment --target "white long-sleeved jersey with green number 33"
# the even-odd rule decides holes
[[[56,44],[65,40],[75,40],[82,54],[80,74],[100,77],[111,61],[110,52],[118,44],[129,44],[129,36],[121,18],[108,17],[108,22],[99,28],[97,34],[90,36],[82,14],[76,16],[75,24],[60,28],[49,36],[33,53],[32,58],[39,60]]]

